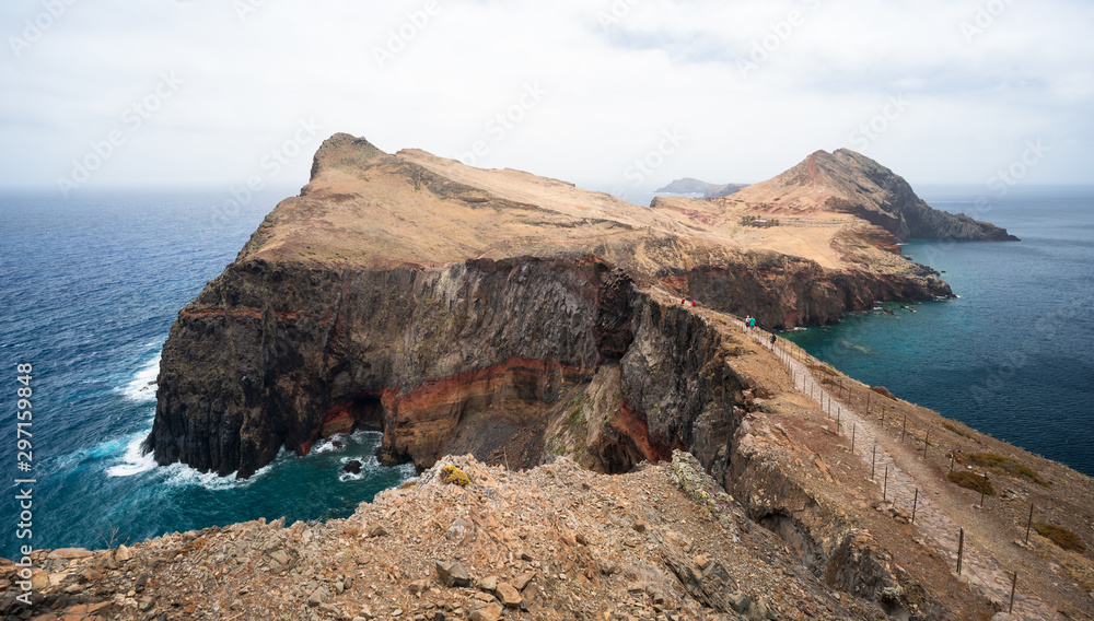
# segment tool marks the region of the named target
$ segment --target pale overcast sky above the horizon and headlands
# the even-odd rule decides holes
[[[913,186],[1094,183],[1090,0],[4,0],[0,17],[2,187],[299,187],[337,131],[608,191],[758,181],[839,148]]]

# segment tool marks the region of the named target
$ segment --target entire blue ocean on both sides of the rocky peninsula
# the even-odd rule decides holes
[[[176,314],[293,194],[268,190],[230,210],[224,191],[0,195],[0,383],[8,386],[0,464],[12,481],[0,496],[0,555],[23,544],[103,548],[258,517],[344,517],[414,476],[412,466],[376,462],[374,433],[304,459],[282,454],[246,481],[158,468],[140,454]],[[951,211],[971,209],[981,194],[921,191]],[[791,337],[854,377],[1094,473],[1094,188],[992,197],[982,219],[1023,242],[905,247],[945,270],[959,298],[852,315]],[[33,367],[33,419],[23,427],[31,455],[22,456],[20,364]],[[364,464],[360,476],[341,471],[352,459]],[[21,502],[31,503],[30,516]]]

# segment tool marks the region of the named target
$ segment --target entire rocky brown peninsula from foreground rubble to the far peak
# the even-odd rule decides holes
[[[38,610],[1091,619],[1085,548],[1050,529],[1020,541],[1031,504],[1094,540],[1089,478],[738,319],[824,324],[952,295],[898,241],[1005,232],[924,211],[906,187],[817,152],[728,197],[640,207],[336,134],[179,313],[147,446],[248,477],[282,448],[372,429],[382,459],[421,477],[325,524],[36,553]],[[967,489],[989,469],[990,502]],[[0,571],[14,584],[18,567]],[[1013,617],[1008,572],[1022,575]]]

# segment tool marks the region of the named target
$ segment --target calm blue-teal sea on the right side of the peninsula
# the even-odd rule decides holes
[[[787,336],[857,379],[1094,476],[1094,187],[919,190],[1022,242],[913,241],[904,254],[944,271],[957,300]]]

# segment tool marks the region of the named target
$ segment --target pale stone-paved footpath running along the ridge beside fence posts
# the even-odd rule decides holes
[[[740,324],[744,328],[744,324]],[[768,333],[753,330],[752,336],[768,349]],[[886,497],[899,507],[903,513],[911,515],[912,503],[916,504],[916,522],[923,541],[931,546],[943,558],[951,561],[951,571],[957,569],[957,539],[961,525],[957,524],[942,507],[931,501],[911,476],[905,472],[886,449],[895,441],[887,434],[878,433],[877,421],[863,417],[859,412],[833,398],[825,388],[814,380],[810,370],[795,360],[788,351],[775,348],[787,366],[788,373],[794,376],[794,387],[803,395],[815,400],[823,410],[831,408],[831,415],[840,421],[840,434],[850,437],[851,430],[856,435],[854,453],[865,462],[876,458],[874,481],[882,491],[885,485],[884,472],[888,469]],[[876,447],[876,457],[874,450]],[[918,501],[916,490],[919,489]],[[962,561],[961,579],[978,587],[988,599],[1000,604],[1005,610],[1010,604],[1012,574],[1004,571],[1000,563],[990,554],[984,552],[968,534],[965,534],[965,553]],[[1024,595],[1021,589],[1014,595],[1014,619],[1028,621],[1062,621],[1056,610],[1033,595]]]

